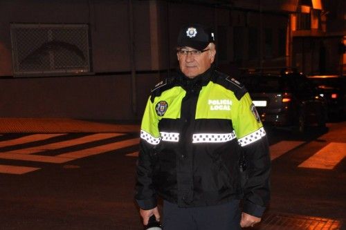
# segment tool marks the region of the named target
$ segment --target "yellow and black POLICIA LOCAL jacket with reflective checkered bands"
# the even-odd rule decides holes
[[[266,132],[246,88],[210,68],[194,79],[177,73],[156,85],[140,131],[136,201],[156,207],[156,195],[179,207],[244,198],[261,216],[269,200]],[[241,186],[239,161],[248,179]]]

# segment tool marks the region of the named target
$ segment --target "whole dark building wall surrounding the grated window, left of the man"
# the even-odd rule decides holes
[[[133,1],[132,7],[134,70],[158,70],[150,61],[149,1]],[[160,77],[137,74],[132,93],[129,1],[5,0],[0,13],[0,117],[138,119],[143,113],[149,89]],[[13,77],[10,23],[89,24],[93,73]]]

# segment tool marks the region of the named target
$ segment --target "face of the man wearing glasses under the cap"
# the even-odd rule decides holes
[[[206,47],[205,50],[209,48],[210,46]],[[195,49],[182,47],[179,50],[191,51]],[[178,57],[181,72],[183,72],[186,77],[194,78],[210,68],[214,61],[215,53],[215,49],[212,48],[208,51],[201,52],[200,55],[194,55],[192,52],[188,52],[186,55],[177,52],[176,55]]]

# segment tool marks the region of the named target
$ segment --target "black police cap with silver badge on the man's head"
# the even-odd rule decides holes
[[[196,50],[203,50],[210,42],[215,43],[215,35],[211,28],[190,23],[181,28],[177,47],[188,46]]]

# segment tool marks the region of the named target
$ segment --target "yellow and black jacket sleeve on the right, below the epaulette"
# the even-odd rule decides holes
[[[261,217],[270,200],[271,159],[266,131],[250,96],[239,100],[233,122],[246,162],[243,211]]]

